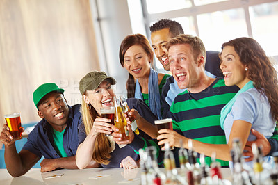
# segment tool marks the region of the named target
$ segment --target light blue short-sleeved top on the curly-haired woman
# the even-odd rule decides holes
[[[261,132],[266,138],[270,138],[275,129],[275,120],[270,112],[270,104],[265,95],[261,95],[256,88],[250,88],[238,95],[236,102],[224,120],[224,132],[227,143],[231,133],[231,127],[235,120],[243,120],[252,124],[252,129]],[[255,140],[256,137],[250,132],[247,140]],[[264,157],[264,161],[272,161],[271,156]],[[252,162],[247,162],[252,167]],[[231,163],[230,163],[231,166]]]

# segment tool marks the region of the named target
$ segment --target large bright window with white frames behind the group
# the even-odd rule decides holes
[[[278,2],[275,0],[137,1],[142,5],[140,16],[147,38],[150,38],[149,25],[158,19],[174,19],[181,23],[185,33],[199,36],[207,50],[220,51],[222,43],[249,36],[257,40],[269,56],[278,56],[275,49],[278,42]],[[133,29],[133,33],[140,33],[138,31]],[[156,67],[163,71],[160,63]]]

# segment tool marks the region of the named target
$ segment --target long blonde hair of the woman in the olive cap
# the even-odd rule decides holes
[[[86,95],[86,91],[84,95]],[[88,109],[87,106],[90,106],[90,108]],[[86,135],[88,136],[95,122],[95,118],[97,118],[97,111],[91,104],[86,104],[84,99],[82,99],[81,113]],[[97,163],[108,165],[109,159],[111,158],[109,147],[110,143],[105,134],[99,134],[96,138],[94,151],[92,152],[92,160]]]

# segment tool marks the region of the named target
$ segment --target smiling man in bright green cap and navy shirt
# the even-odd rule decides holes
[[[33,93],[33,102],[42,120],[28,135],[27,143],[17,153],[15,140],[3,125],[0,141],[5,145],[5,163],[13,177],[24,175],[42,156],[41,172],[56,168],[76,169],[78,126],[81,124],[80,104],[67,105],[64,90],[55,83],[44,83]],[[88,168],[97,167],[90,163]]]

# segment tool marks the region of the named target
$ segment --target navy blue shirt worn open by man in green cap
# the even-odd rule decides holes
[[[82,123],[80,104],[69,107],[69,118],[63,135],[63,146],[67,156],[74,156],[78,147],[78,126]],[[42,119],[28,135],[27,143],[22,149],[28,150],[40,158],[56,159],[61,156],[54,148],[52,127],[47,120]]]

